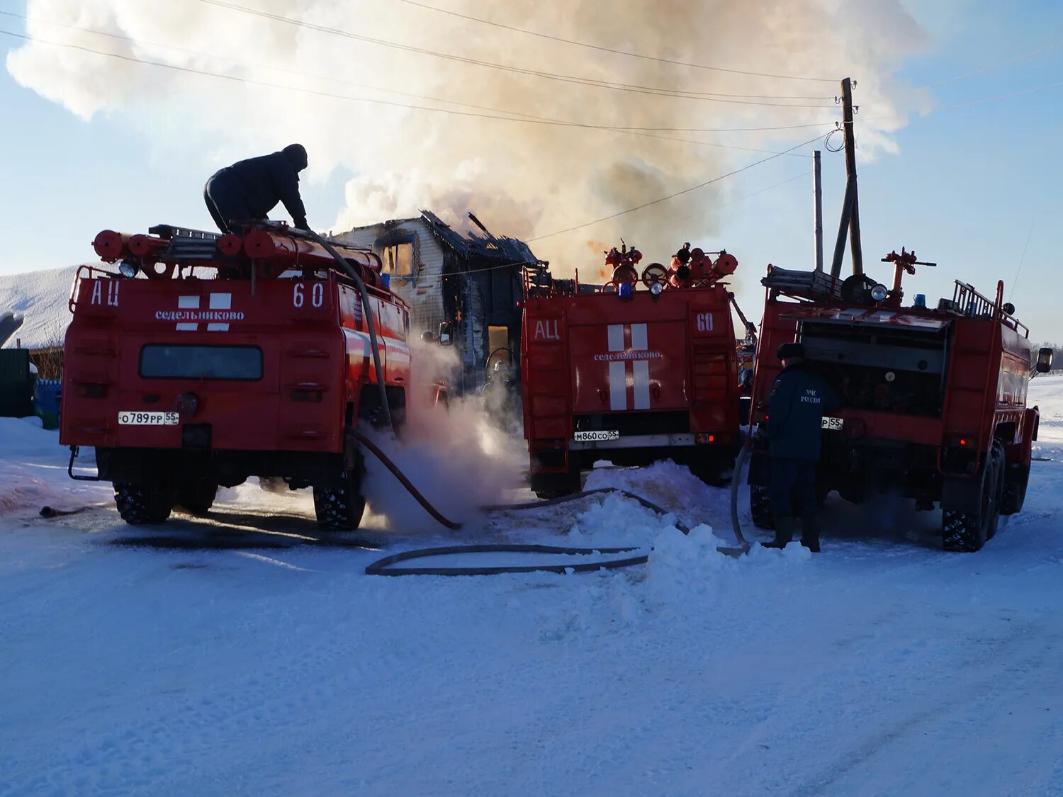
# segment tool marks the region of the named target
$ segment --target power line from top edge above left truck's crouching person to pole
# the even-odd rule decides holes
[[[352,33],[351,31],[341,30],[339,28],[331,28],[328,26],[316,24],[314,22],[306,22],[301,19],[292,19],[290,17],[285,17],[280,14],[272,14],[270,12],[259,11],[258,9],[249,9],[244,5],[239,5],[237,3],[225,2],[225,0],[199,0],[199,1],[207,5],[216,5],[220,9],[229,9],[231,11],[236,11],[243,14],[250,14],[252,16],[260,17],[263,19],[270,19],[276,22],[284,22],[285,24],[291,24],[298,28],[304,28],[306,30],[318,31],[320,33],[327,33],[334,36],[342,36],[343,38],[350,38],[356,41],[366,41],[368,44],[378,45],[382,47],[389,47],[396,50],[402,50],[404,52],[414,52],[421,55],[431,55],[433,57],[444,58],[446,61],[454,61],[461,64],[469,64],[489,69],[497,69],[506,72],[511,72],[514,74],[525,74],[535,78],[543,78],[545,80],[559,81],[561,83],[571,83],[575,85],[590,86],[593,88],[606,88],[613,91],[625,91],[629,94],[649,95],[654,97],[672,97],[676,99],[697,100],[702,102],[720,102],[732,105],[757,105],[761,107],[777,107],[777,108],[830,107],[830,105],[824,103],[819,103],[819,104],[777,103],[777,102],[759,102],[756,100],[724,99],[724,98],[713,97],[711,92],[708,91],[687,91],[682,89],[669,89],[655,86],[639,86],[630,83],[619,83],[613,81],[597,80],[594,78],[581,78],[578,75],[560,74],[557,72],[546,72],[539,69],[526,69],[523,67],[509,66],[506,64],[495,64],[493,62],[479,61],[477,58],[470,58],[463,55],[454,55],[453,53],[444,53],[444,52],[439,52],[437,50],[428,50],[423,47],[404,45],[399,41],[389,41],[387,39],[379,39],[372,36],[364,36],[361,34]]]

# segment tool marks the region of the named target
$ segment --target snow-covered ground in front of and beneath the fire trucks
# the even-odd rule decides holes
[[[976,555],[938,549],[937,513],[831,502],[822,555],[732,560],[725,491],[671,464],[589,487],[690,538],[610,497],[451,535],[396,504],[400,531],[321,544],[305,497],[253,485],[134,529],[0,419],[0,794],[1063,795],[1063,377],[1031,390],[1026,510]],[[362,575],[372,545],[455,540],[656,549]]]

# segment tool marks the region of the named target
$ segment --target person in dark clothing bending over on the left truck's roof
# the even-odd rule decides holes
[[[229,233],[234,222],[265,219],[277,202],[283,202],[292,223],[300,230],[309,230],[306,208],[299,196],[299,172],[305,168],[305,148],[290,143],[280,152],[240,160],[217,171],[203,189],[214,223],[222,233]]]

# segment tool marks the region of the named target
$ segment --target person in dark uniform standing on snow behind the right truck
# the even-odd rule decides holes
[[[771,498],[775,540],[782,548],[793,540],[795,519],[802,519],[802,545],[820,550],[820,502],[815,463],[820,461],[823,416],[838,409],[838,395],[805,364],[805,346],[783,343],[778,350],[782,373],[767,400],[767,440],[772,456]]]

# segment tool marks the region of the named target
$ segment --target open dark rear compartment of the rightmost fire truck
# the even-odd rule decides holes
[[[926,332],[805,322],[800,339],[806,358],[837,391],[840,409],[941,417],[947,326]]]

